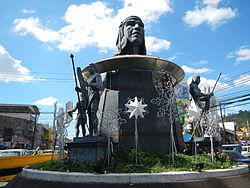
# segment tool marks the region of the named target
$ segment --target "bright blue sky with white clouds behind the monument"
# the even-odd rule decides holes
[[[119,23],[130,15],[145,23],[148,55],[178,64],[186,80],[199,74],[201,85],[212,87],[223,71],[215,92],[221,100],[249,94],[249,8],[248,0],[2,0],[0,103],[53,112],[55,101],[76,102],[70,54],[82,68],[113,56]]]

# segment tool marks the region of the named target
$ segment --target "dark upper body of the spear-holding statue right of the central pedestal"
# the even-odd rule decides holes
[[[200,76],[198,75],[193,76],[189,92],[192,98],[194,99],[195,104],[203,111],[208,111],[210,107],[210,97],[213,96],[213,93],[210,94],[202,93],[200,88],[198,87],[199,83],[200,83]],[[201,101],[205,102],[205,106],[202,105]]]

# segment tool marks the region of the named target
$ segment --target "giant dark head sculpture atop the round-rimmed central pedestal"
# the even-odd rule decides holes
[[[115,55],[146,55],[144,24],[138,16],[129,16],[119,26]]]

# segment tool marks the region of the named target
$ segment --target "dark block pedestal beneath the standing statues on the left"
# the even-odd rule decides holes
[[[97,158],[104,158],[107,150],[107,138],[101,136],[85,136],[74,138],[66,143],[70,159],[95,163]]]

